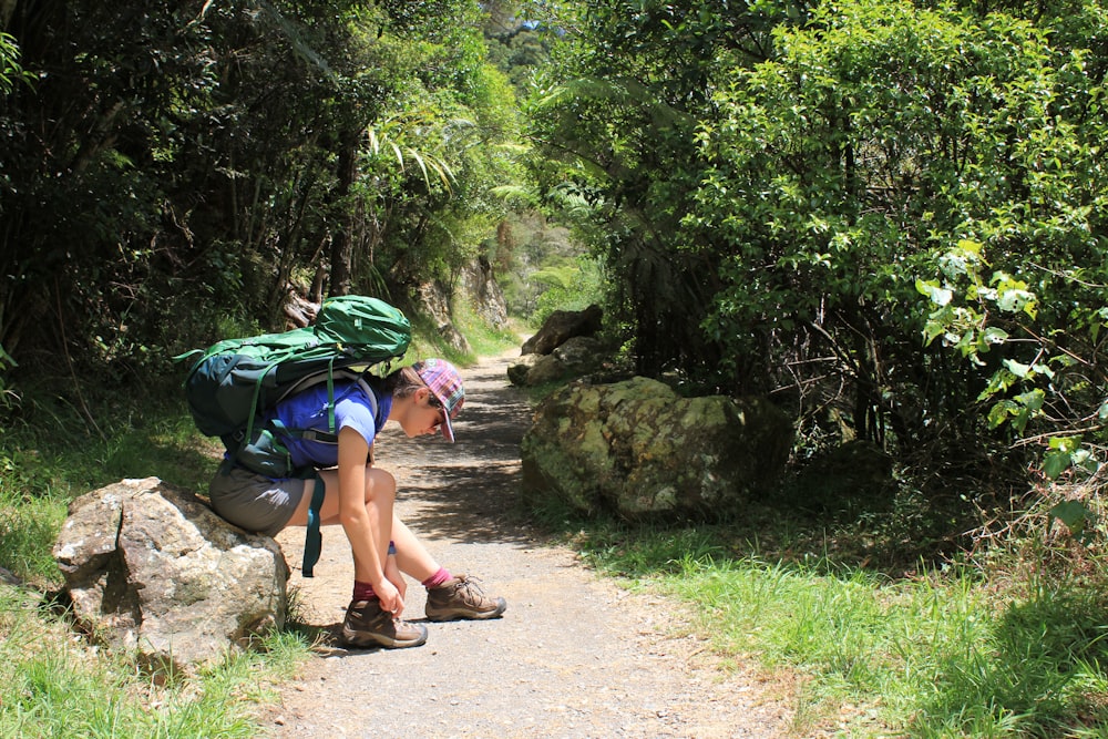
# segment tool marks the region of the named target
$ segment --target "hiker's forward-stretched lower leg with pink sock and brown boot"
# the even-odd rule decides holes
[[[428,620],[496,618],[507,608],[504,598],[491,598],[476,581],[451,575],[431,556],[398,516],[392,519],[392,542],[397,546],[400,572],[414,577],[427,588]]]

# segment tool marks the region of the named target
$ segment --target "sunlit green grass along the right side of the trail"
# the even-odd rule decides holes
[[[797,736],[1108,737],[1102,586],[967,567],[890,577],[743,538],[774,525],[578,522],[572,541],[601,571],[688,604],[718,654],[798,676]]]

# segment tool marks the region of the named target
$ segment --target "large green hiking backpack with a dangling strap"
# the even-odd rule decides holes
[[[346,295],[325,300],[315,324],[307,328],[226,339],[177,359],[199,355],[185,377],[185,399],[202,433],[219,437],[229,456],[253,472],[275,479],[311,478],[314,470],[293,469],[277,435],[310,433],[316,441],[338,443],[334,393],[329,393],[329,433],[276,428],[263,423],[265,412],[305,388],[326,382],[332,390],[336,379],[360,380],[382,365],[387,371],[410,342],[411,324],[399,309],[377,298]],[[306,577],[311,576],[315,562],[308,563],[308,553],[312,531],[318,541],[322,484],[316,485],[315,497],[305,548]],[[318,544],[314,556],[318,556]]]

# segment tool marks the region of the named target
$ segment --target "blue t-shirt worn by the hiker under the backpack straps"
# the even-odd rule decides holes
[[[377,400],[376,414],[373,403],[360,383],[350,381],[335,383],[335,433],[350,428],[360,433],[367,444],[373,445],[377,432],[389,418],[392,394],[381,393],[372,386],[371,391]],[[327,404],[327,384],[322,383],[277,403],[274,414],[286,429],[330,431]],[[294,466],[330,468],[339,462],[338,444],[286,434],[278,435],[288,450]]]

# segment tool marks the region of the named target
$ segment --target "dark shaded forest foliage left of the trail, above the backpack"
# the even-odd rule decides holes
[[[20,366],[134,379],[226,326],[278,328],[291,289],[408,307],[475,260],[494,186],[520,179],[470,0],[4,9],[0,346]]]

